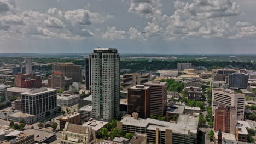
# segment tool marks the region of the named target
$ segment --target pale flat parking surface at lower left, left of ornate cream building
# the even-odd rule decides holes
[[[43,142],[46,139],[56,135],[55,133],[51,133],[49,131],[39,130],[39,129],[26,129],[23,131],[24,133],[34,134],[34,141]],[[37,137],[39,135],[39,137]],[[45,139],[45,137],[48,137]]]

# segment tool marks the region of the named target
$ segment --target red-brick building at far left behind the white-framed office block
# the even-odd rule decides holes
[[[42,87],[42,80],[36,74],[24,75],[18,73],[18,75],[14,76],[14,84],[15,87],[20,88],[40,88]]]

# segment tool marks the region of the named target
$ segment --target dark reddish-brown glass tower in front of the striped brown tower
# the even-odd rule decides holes
[[[150,117],[150,87],[136,85],[128,88],[127,113],[137,112],[139,117]]]

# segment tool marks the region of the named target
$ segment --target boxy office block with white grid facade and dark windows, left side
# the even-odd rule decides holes
[[[41,121],[57,113],[57,92],[51,88],[37,88],[21,94],[22,113],[35,116]]]

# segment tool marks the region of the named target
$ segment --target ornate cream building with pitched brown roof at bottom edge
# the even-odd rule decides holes
[[[96,143],[94,130],[91,127],[82,127],[67,122],[63,129],[61,144],[74,143]]]

